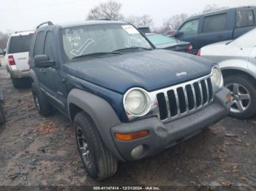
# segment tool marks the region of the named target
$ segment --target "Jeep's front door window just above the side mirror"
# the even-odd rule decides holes
[[[52,31],[48,31],[45,37],[44,54],[48,55],[50,60],[56,60],[56,44],[54,43],[54,34]]]

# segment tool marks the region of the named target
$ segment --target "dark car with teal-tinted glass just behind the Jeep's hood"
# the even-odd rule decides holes
[[[146,36],[159,49],[192,53],[193,47],[189,42],[179,41],[173,36],[164,36],[162,34],[146,34]]]

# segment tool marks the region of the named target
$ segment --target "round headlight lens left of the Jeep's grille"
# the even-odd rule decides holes
[[[148,97],[141,90],[131,90],[124,98],[124,107],[129,114],[140,116],[146,114]]]

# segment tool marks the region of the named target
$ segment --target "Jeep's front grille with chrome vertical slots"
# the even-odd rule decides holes
[[[174,120],[207,106],[213,101],[211,77],[203,77],[157,91],[159,118]]]

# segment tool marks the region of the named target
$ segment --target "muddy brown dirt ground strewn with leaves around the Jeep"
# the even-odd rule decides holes
[[[120,163],[116,176],[86,176],[69,120],[37,114],[29,88],[16,90],[0,67],[7,123],[0,128],[0,186],[151,185],[244,186],[256,189],[256,120],[225,118],[188,141],[135,163]],[[217,187],[215,187],[217,188]]]

